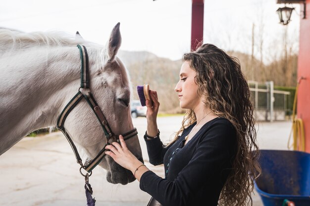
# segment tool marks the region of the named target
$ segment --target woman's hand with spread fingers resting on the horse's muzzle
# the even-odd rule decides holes
[[[112,142],[110,145],[105,146],[105,149],[109,151],[105,151],[106,155],[109,155],[113,160],[122,167],[135,171],[137,165],[141,165],[141,163],[127,148],[126,143],[122,135],[119,135],[120,144],[117,142]]]

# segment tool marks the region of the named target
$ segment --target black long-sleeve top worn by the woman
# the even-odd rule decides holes
[[[228,120],[215,118],[184,146],[188,126],[178,140],[165,147],[158,137],[147,140],[150,163],[164,164],[165,178],[153,171],[140,179],[141,190],[163,206],[217,206],[220,192],[236,155],[236,129]]]

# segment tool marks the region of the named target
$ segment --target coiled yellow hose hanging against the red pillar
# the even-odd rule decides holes
[[[300,81],[299,81],[300,82]],[[293,146],[293,150],[298,151],[306,151],[306,143],[305,143],[305,130],[304,130],[304,123],[303,120],[297,118],[297,92],[298,92],[299,83],[296,86],[295,98],[294,98],[294,105],[293,105],[293,125],[289,136],[288,141],[288,148],[291,149]],[[291,135],[293,131],[293,145],[290,144]]]

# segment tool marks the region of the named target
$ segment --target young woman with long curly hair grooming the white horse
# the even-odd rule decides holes
[[[165,178],[137,160],[121,136],[120,144],[106,146],[106,154],[132,171],[154,198],[149,205],[252,205],[253,180],[260,172],[252,150],[258,145],[250,90],[238,59],[212,44],[184,54],[175,91],[187,113],[168,145],[159,138],[156,91],[150,92],[153,104],[146,102],[150,163],[164,164]]]

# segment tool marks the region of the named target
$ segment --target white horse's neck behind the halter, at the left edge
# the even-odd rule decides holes
[[[0,57],[0,154],[29,132],[56,125],[80,86],[77,48],[28,50]]]

